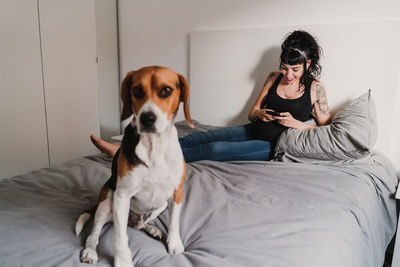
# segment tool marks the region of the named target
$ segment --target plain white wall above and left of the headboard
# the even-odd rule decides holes
[[[398,0],[119,0],[121,75],[158,64],[190,81],[193,31],[391,20],[400,19],[399,10]],[[177,119],[183,119],[182,113]],[[392,131],[394,136],[400,129]],[[393,155],[400,153],[394,141]]]

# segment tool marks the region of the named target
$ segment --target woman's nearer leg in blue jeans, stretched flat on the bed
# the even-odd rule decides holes
[[[198,160],[233,161],[233,160],[269,160],[271,143],[260,140],[243,142],[217,141],[200,144],[191,148],[182,148],[186,162]]]

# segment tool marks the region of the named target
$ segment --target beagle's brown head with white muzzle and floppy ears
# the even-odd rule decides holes
[[[189,114],[189,86],[173,70],[149,66],[128,72],[121,84],[123,103],[121,121],[135,115],[139,133],[162,133],[173,123],[179,103],[183,102],[186,121]]]

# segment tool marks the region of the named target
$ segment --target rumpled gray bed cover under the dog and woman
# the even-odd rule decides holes
[[[210,127],[197,124],[197,130]],[[180,134],[190,131],[178,123]],[[95,155],[0,182],[0,266],[88,266],[79,261],[92,222],[79,237],[78,216],[110,176],[111,159]],[[398,179],[381,154],[352,165],[287,162],[187,164],[180,220],[186,251],[167,253],[128,228],[135,266],[383,265],[396,229]],[[166,236],[168,214],[153,222]],[[107,224],[96,266],[113,262]]]

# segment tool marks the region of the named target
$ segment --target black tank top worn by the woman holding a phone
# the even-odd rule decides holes
[[[279,82],[281,81],[283,74],[272,84],[268,90],[268,94],[265,96],[260,108],[268,108],[278,112],[289,112],[293,118],[299,121],[308,121],[312,118],[312,104],[310,85],[306,86],[304,93],[296,99],[285,99],[278,95],[276,92],[278,89]],[[280,125],[276,121],[264,122],[264,121],[253,121],[246,125],[247,134],[250,139],[265,140],[275,143],[279,135],[286,130],[287,127]]]

